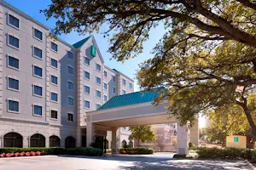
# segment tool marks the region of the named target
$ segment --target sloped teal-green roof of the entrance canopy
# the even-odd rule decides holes
[[[153,102],[154,98],[159,95],[158,90],[152,91],[142,91],[135,92],[131,94],[124,94],[119,96],[114,96],[112,99],[109,99],[107,103],[102,105],[97,111],[112,109],[116,107],[122,107],[126,105],[137,105],[147,102]]]

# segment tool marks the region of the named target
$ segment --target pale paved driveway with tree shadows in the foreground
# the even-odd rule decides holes
[[[0,170],[170,170],[251,169],[245,161],[172,160],[172,155],[154,156],[34,156],[0,159]]]

